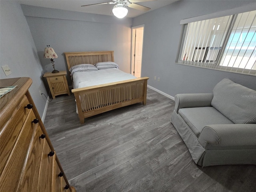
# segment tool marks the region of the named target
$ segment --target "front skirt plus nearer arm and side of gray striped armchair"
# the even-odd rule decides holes
[[[200,166],[256,164],[255,124],[209,125],[197,138],[175,110],[171,122]]]

